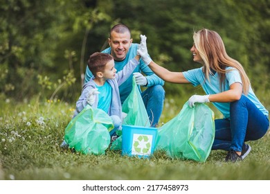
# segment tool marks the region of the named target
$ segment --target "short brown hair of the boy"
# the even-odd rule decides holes
[[[96,73],[103,72],[107,62],[114,60],[114,58],[107,53],[96,52],[90,55],[87,62],[90,71],[93,73],[93,76],[96,76]]]

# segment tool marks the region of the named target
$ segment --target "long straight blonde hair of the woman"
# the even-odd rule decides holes
[[[228,56],[222,38],[218,33],[204,28],[193,34],[193,40],[201,59],[204,61],[206,79],[209,80],[209,75],[213,74],[211,69],[213,69],[219,74],[219,87],[222,89],[226,80],[226,67],[233,67],[240,73],[244,94],[248,94],[251,82],[242,64]]]

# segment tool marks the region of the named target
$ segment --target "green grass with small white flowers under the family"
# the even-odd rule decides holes
[[[168,98],[161,123],[176,116],[183,102]],[[171,159],[154,152],[150,159],[105,155],[82,155],[60,148],[64,128],[75,105],[59,100],[0,102],[0,179],[17,180],[258,180],[270,179],[270,133],[251,141],[251,153],[244,161],[225,163],[226,152],[210,152],[206,162]]]

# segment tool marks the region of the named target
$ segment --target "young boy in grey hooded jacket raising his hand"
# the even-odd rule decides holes
[[[83,85],[82,94],[76,103],[73,118],[77,116],[87,104],[107,112],[114,123],[111,130],[111,141],[116,140],[116,130],[120,130],[122,124],[122,105],[118,87],[129,78],[140,60],[140,55],[129,60],[122,71],[116,73],[114,58],[107,53],[93,53],[87,62],[93,77]],[[68,148],[63,141],[60,147]]]

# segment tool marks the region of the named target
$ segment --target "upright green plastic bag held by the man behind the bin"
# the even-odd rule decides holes
[[[143,98],[141,98],[141,93],[138,90],[134,77],[132,80],[132,91],[125,99],[122,111],[127,114],[123,121],[124,125],[150,127],[150,121],[143,103]]]

